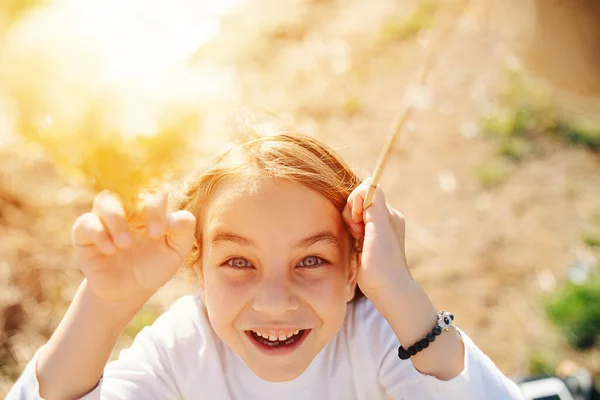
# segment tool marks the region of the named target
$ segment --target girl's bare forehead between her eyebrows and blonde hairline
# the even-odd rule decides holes
[[[330,230],[340,234],[340,213],[327,198],[283,179],[237,178],[222,182],[204,210],[204,237],[223,226],[296,232],[298,236]]]

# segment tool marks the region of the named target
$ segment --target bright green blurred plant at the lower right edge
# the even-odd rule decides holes
[[[555,292],[546,304],[546,314],[571,346],[592,347],[600,334],[598,277],[591,277],[582,285],[568,283]]]

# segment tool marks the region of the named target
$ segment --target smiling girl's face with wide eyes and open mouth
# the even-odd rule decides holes
[[[298,377],[354,295],[340,213],[304,186],[259,180],[222,185],[202,220],[200,286],[216,333],[262,379]]]

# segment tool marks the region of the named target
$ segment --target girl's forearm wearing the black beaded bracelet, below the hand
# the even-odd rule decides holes
[[[387,282],[371,299],[405,348],[421,340],[437,323],[437,312],[423,288],[410,277]],[[464,344],[454,328],[436,336],[425,350],[410,358],[417,370],[448,380],[464,369]]]

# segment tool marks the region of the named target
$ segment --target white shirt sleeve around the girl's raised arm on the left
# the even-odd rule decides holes
[[[118,360],[107,364],[96,387],[81,399],[180,399],[172,356],[178,356],[177,343],[192,336],[190,330],[193,329],[176,323],[177,319],[185,321],[178,312],[181,308],[176,302],[153,325],[142,329],[131,347],[121,351]],[[198,338],[199,335],[193,336]],[[27,364],[7,400],[42,400],[36,375],[36,363],[42,349]]]

